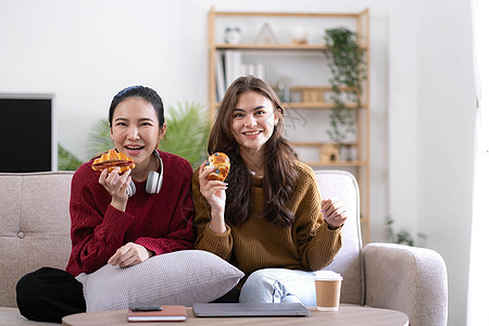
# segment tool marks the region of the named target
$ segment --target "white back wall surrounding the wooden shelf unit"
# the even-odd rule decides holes
[[[153,87],[165,104],[208,102],[208,12],[371,9],[372,238],[387,197],[386,0],[0,0],[0,92],[54,93],[59,142],[88,160],[88,133],[122,88]],[[298,72],[298,75],[300,72]]]

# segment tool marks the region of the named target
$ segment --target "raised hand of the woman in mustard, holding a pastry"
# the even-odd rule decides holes
[[[211,205],[211,229],[215,233],[224,233],[224,210],[226,206],[227,184],[220,180],[208,180],[208,175],[214,171],[213,165],[204,162],[199,167],[200,192]]]

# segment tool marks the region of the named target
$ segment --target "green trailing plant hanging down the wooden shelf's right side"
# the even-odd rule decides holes
[[[324,51],[331,71],[331,110],[330,129],[326,133],[331,141],[341,150],[348,134],[354,133],[353,112],[347,103],[361,108],[362,82],[366,79],[365,58],[359,46],[356,33],[344,28],[325,30]]]

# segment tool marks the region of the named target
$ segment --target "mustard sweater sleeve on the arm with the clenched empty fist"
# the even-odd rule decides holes
[[[318,271],[329,265],[341,248],[341,227],[331,230],[321,212],[321,193],[312,171],[301,173],[294,228],[301,264]]]

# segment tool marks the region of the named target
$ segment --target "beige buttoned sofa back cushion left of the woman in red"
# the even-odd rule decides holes
[[[64,269],[72,249],[73,172],[0,173],[0,305],[16,306],[15,285],[42,266]]]

